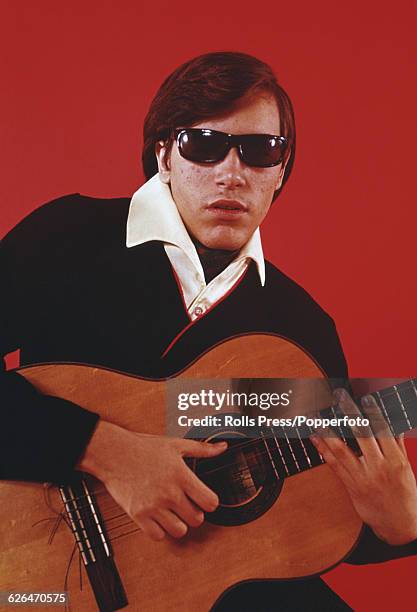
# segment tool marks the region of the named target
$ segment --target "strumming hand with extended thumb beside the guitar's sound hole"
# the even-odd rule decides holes
[[[151,436],[100,421],[77,468],[101,480],[150,538],[179,538],[219,504],[183,457],[214,457],[226,448],[223,442]]]

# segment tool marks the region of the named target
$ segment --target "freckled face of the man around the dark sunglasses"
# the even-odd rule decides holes
[[[242,98],[233,111],[191,127],[227,134],[280,135],[278,107],[271,94]],[[219,162],[202,164],[184,159],[174,142],[167,159],[157,146],[161,179],[192,237],[210,249],[240,249],[262,223],[280,187],[283,164],[272,168],[246,165],[236,148]],[[230,207],[234,207],[233,210]]]

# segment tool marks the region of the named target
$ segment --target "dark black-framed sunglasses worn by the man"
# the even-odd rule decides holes
[[[174,137],[182,157],[202,164],[219,162],[236,147],[240,159],[248,166],[270,168],[282,162],[288,146],[288,138],[284,136],[233,136],[205,128],[178,128],[174,130]]]

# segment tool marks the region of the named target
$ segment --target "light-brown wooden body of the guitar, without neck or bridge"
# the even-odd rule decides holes
[[[44,365],[20,373],[42,392],[71,400],[103,419],[143,433],[165,434],[164,381],[149,381],[83,365]],[[180,375],[194,378],[315,378],[327,383],[314,361],[297,346],[269,335],[234,338],[204,354]],[[63,432],[65,435],[65,432]],[[100,483],[97,487],[102,488]],[[59,492],[46,485],[0,484],[2,590],[64,590],[74,537],[62,522],[53,541]],[[98,494],[106,515],[121,514],[107,493]],[[48,502],[48,503],[47,503]],[[57,514],[54,514],[54,511]],[[344,487],[325,465],[286,478],[272,506],[238,526],[205,522],[186,537],[152,542],[128,520],[107,523],[129,600],[128,609],[208,611],[223,591],[259,578],[321,573],[340,562],[357,541],[362,523]],[[110,531],[111,528],[111,531]],[[114,539],[115,538],[115,539]],[[73,610],[96,609],[88,580],[80,590],[78,559],[68,590]],[[83,570],[84,572],[84,570]]]

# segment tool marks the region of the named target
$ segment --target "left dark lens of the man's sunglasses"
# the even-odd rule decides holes
[[[184,130],[178,139],[180,153],[186,159],[202,163],[214,163],[227,153],[227,137],[210,130]]]

